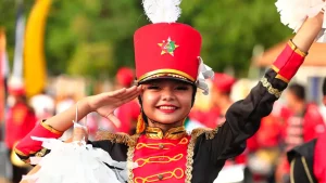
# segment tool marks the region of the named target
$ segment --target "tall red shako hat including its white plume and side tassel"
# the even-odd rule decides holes
[[[197,84],[208,93],[204,79],[213,77],[200,57],[201,35],[189,25],[175,23],[180,0],[143,0],[153,23],[134,35],[137,82],[173,78]]]

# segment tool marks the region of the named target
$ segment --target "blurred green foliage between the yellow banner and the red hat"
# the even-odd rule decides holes
[[[133,66],[133,34],[141,24],[135,21],[139,15],[136,1],[57,0],[47,29],[52,73],[97,78],[113,76],[121,65]]]

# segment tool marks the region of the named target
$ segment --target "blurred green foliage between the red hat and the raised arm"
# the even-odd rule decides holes
[[[218,71],[233,67],[238,76],[243,76],[254,45],[268,49],[291,35],[280,23],[274,3],[272,0],[192,1],[183,3],[186,14],[183,17],[202,34],[205,63]]]

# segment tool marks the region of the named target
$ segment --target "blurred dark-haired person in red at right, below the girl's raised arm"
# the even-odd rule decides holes
[[[288,88],[286,94],[288,107],[292,112],[284,128],[285,152],[288,152],[319,136],[325,131],[325,122],[318,107],[305,102],[303,86],[294,83]],[[284,156],[278,167],[278,179],[287,182],[289,172],[290,165]]]

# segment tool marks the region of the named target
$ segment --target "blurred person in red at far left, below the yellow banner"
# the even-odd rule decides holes
[[[18,183],[23,174],[28,169],[22,167],[12,155],[15,144],[25,138],[35,127],[37,117],[32,107],[27,104],[25,90],[23,87],[10,87],[9,93],[12,96],[13,105],[9,108],[5,120],[5,145],[9,149],[8,155],[12,162],[12,182]]]

